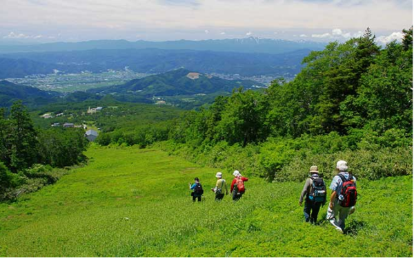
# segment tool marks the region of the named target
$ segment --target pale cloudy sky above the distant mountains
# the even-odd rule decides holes
[[[408,0],[0,0],[0,42],[126,39],[346,41],[370,27],[380,43],[413,24]]]

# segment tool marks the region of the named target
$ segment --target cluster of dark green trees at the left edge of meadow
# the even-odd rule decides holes
[[[0,109],[0,200],[18,186],[54,182],[52,167],[86,160],[83,129],[36,129],[21,101],[9,113]]]

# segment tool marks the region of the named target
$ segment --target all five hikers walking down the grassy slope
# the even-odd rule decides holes
[[[326,214],[326,219],[335,228],[341,232],[344,232],[345,219],[349,214],[355,211],[355,204],[357,202],[357,189],[356,178],[348,173],[348,163],[344,160],[339,160],[336,165],[337,175],[333,177],[329,189],[332,190],[329,198],[329,206]],[[248,178],[242,176],[239,171],[234,171],[235,177],[230,185],[230,193],[232,194],[233,201],[239,200],[246,189],[244,188],[244,182],[248,181]],[[228,195],[228,188],[226,180],[223,179],[223,173],[217,172],[215,177],[217,182],[215,188],[211,190],[215,193],[215,200],[221,201],[224,195]],[[193,202],[197,199],[201,202],[201,196],[204,193],[203,187],[199,182],[199,178],[194,179],[194,184],[189,184],[190,190],[193,190],[191,196],[193,196]],[[309,169],[309,178],[306,179],[304,189],[299,197],[299,205],[304,205],[304,216],[306,222],[315,224],[317,222],[317,215],[321,206],[326,204],[327,191],[324,180],[319,177],[319,171],[317,166],[311,166]]]

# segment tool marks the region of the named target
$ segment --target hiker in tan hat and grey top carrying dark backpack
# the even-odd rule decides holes
[[[319,178],[317,166],[311,166],[309,174],[310,177],[306,179],[304,189],[299,198],[299,205],[302,206],[306,195],[304,207],[305,222],[315,224],[321,205],[323,206],[326,203],[326,186],[324,180]]]

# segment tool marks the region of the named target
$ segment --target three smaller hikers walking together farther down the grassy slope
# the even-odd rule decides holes
[[[242,176],[242,174],[235,170],[233,172],[233,176],[235,177],[230,185],[230,193],[232,194],[233,201],[238,201],[246,189],[244,188],[244,182],[248,181],[248,178]],[[217,182],[215,188],[212,188],[211,191],[215,193],[215,200],[221,201],[224,198],[224,195],[228,195],[228,187],[226,180],[223,179],[223,173],[217,172],[215,177],[217,178]],[[201,196],[204,193],[203,186],[201,186],[199,182],[199,178],[194,179],[194,184],[189,183],[190,190],[193,190],[191,196],[193,196],[193,202],[197,199],[201,202]]]

